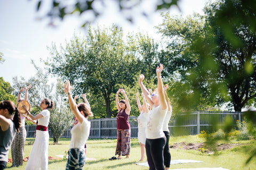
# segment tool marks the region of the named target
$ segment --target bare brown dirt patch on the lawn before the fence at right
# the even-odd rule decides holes
[[[173,145],[170,145],[170,148],[172,149],[194,149],[194,150],[199,150],[202,152],[207,152],[209,154],[213,153],[215,148],[218,151],[225,150],[225,149],[231,149],[236,146],[241,146],[243,144],[241,143],[217,143],[214,146],[206,146],[205,143],[190,143],[190,142],[180,142],[180,143],[173,143]]]

